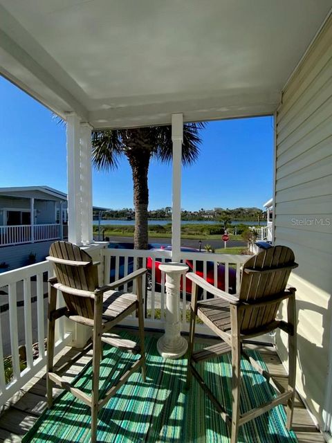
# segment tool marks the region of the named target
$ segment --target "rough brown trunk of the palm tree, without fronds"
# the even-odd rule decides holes
[[[135,208],[135,234],[133,247],[135,249],[147,249],[147,206],[149,204],[149,188],[147,186],[147,172],[149,170],[150,152],[142,152],[139,156],[127,157],[133,174],[133,205]]]

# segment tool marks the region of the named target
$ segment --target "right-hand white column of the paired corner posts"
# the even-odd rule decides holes
[[[82,243],[84,245],[93,242],[91,129],[89,123],[81,124]]]

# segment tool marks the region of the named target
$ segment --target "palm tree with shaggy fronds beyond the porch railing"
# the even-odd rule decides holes
[[[182,163],[190,165],[199,156],[199,130],[205,123],[187,123],[183,126]],[[135,208],[134,248],[147,249],[147,206],[149,189],[147,173],[152,157],[162,162],[172,160],[172,127],[142,127],[112,129],[92,134],[93,164],[98,170],[114,170],[120,156],[126,156],[133,176],[133,204]]]

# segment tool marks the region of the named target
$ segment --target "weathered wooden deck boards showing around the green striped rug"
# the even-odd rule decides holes
[[[278,381],[285,384],[286,379],[284,376],[286,372],[274,348],[259,345],[248,346],[252,349],[259,350],[270,372],[280,374]],[[88,350],[84,356],[78,361],[75,361],[71,368],[68,369],[67,363],[75,360],[77,354],[77,350],[72,347],[66,347],[57,355],[57,363],[55,366],[57,369],[63,367],[63,372],[68,378],[68,381],[71,381],[92,357],[91,350]],[[56,391],[55,394],[57,395],[62,392],[61,389],[54,391]],[[45,395],[46,375],[44,369],[33,377],[24,388],[17,392],[15,397],[1,408],[0,442],[21,442],[23,435],[29,431],[39,415],[45,410]],[[322,434],[317,431],[299,397],[297,397],[294,410],[293,429],[297,434],[299,443],[323,443],[325,441]]]

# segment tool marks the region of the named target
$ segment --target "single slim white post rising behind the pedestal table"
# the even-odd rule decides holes
[[[183,114],[172,114],[173,177],[172,177],[172,261],[181,253],[181,169]]]

